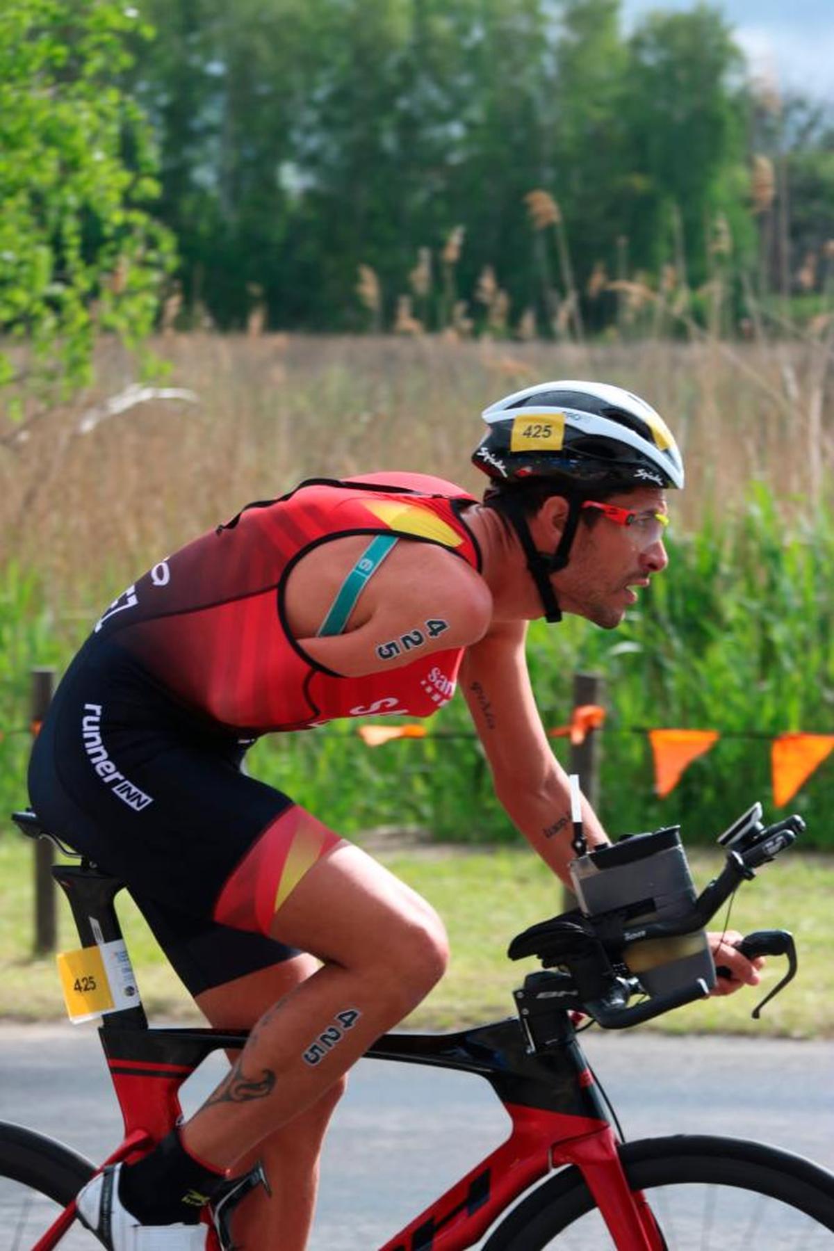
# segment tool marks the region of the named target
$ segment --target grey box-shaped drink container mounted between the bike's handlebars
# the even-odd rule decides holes
[[[704,929],[673,938],[640,940],[643,923],[674,923],[695,902],[678,826],[650,834],[626,834],[571,861],[570,877],[586,917],[625,912],[626,932],[638,932],[623,952],[630,972],[649,995],[665,995],[701,978],[715,985],[715,966]]]

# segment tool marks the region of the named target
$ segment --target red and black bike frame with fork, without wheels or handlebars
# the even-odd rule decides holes
[[[54,872],[85,946],[95,941],[90,917],[105,941],[121,937],[113,903],[119,884],[113,878],[70,866]],[[139,1158],[164,1138],[181,1116],[185,1080],[210,1052],[236,1050],[246,1041],[240,1032],[151,1030],[141,1006],[105,1016],[99,1035],[125,1128],[104,1163]],[[664,1251],[643,1193],[628,1185],[605,1105],[564,1008],[554,1007],[541,1048],[510,1017],[451,1035],[385,1035],[368,1056],[478,1073],[511,1121],[505,1142],[380,1251],[465,1251],[515,1198],[564,1165],[581,1171],[618,1251]],[[70,1203],[33,1251],[58,1247],[74,1218]],[[215,1235],[206,1232],[209,1251],[213,1243],[219,1251]]]

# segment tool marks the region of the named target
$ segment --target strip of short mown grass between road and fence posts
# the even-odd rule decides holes
[[[496,848],[471,852],[443,848],[419,853],[383,853],[399,877],[428,898],[444,917],[451,941],[451,967],[444,981],[414,1013],[418,1028],[454,1028],[511,1012],[511,992],[534,961],[510,965],[510,938],[561,908],[560,887],[531,852]],[[0,1020],[45,1021],[63,1016],[54,960],[33,960],[31,848],[23,838],[0,838]],[[699,886],[720,867],[720,857],[695,848],[690,853]],[[781,927],[796,937],[800,973],[784,995],[750,1020],[754,1005],[784,971],[771,961],[755,991],[683,1008],[656,1028],[683,1032],[746,1032],[759,1036],[834,1036],[834,971],[829,958],[834,926],[830,904],[834,858],[789,853],[744,886],[733,907],[731,924],[743,931]],[[189,1017],[190,1000],[166,966],[144,921],[130,901],[120,907],[128,946],[149,1013]],[[78,946],[69,908],[60,903],[60,948]]]

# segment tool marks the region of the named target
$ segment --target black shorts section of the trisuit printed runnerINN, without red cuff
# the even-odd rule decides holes
[[[60,683],[33,751],[38,816],[125,883],[191,995],[298,955],[248,918],[239,928],[214,917],[264,832],[304,813],[241,772],[244,752],[95,638]]]

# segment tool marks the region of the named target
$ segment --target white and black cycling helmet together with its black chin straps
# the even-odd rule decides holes
[[[473,455],[490,479],[485,500],[513,523],[539,588],[545,617],[561,617],[550,575],[563,569],[581,504],[601,492],[634,487],[683,488],[684,465],[674,435],[650,404],[606,383],[561,380],[514,392],[484,410],[486,433]],[[569,503],[553,553],[536,550],[521,499],[524,483],[544,484]]]

